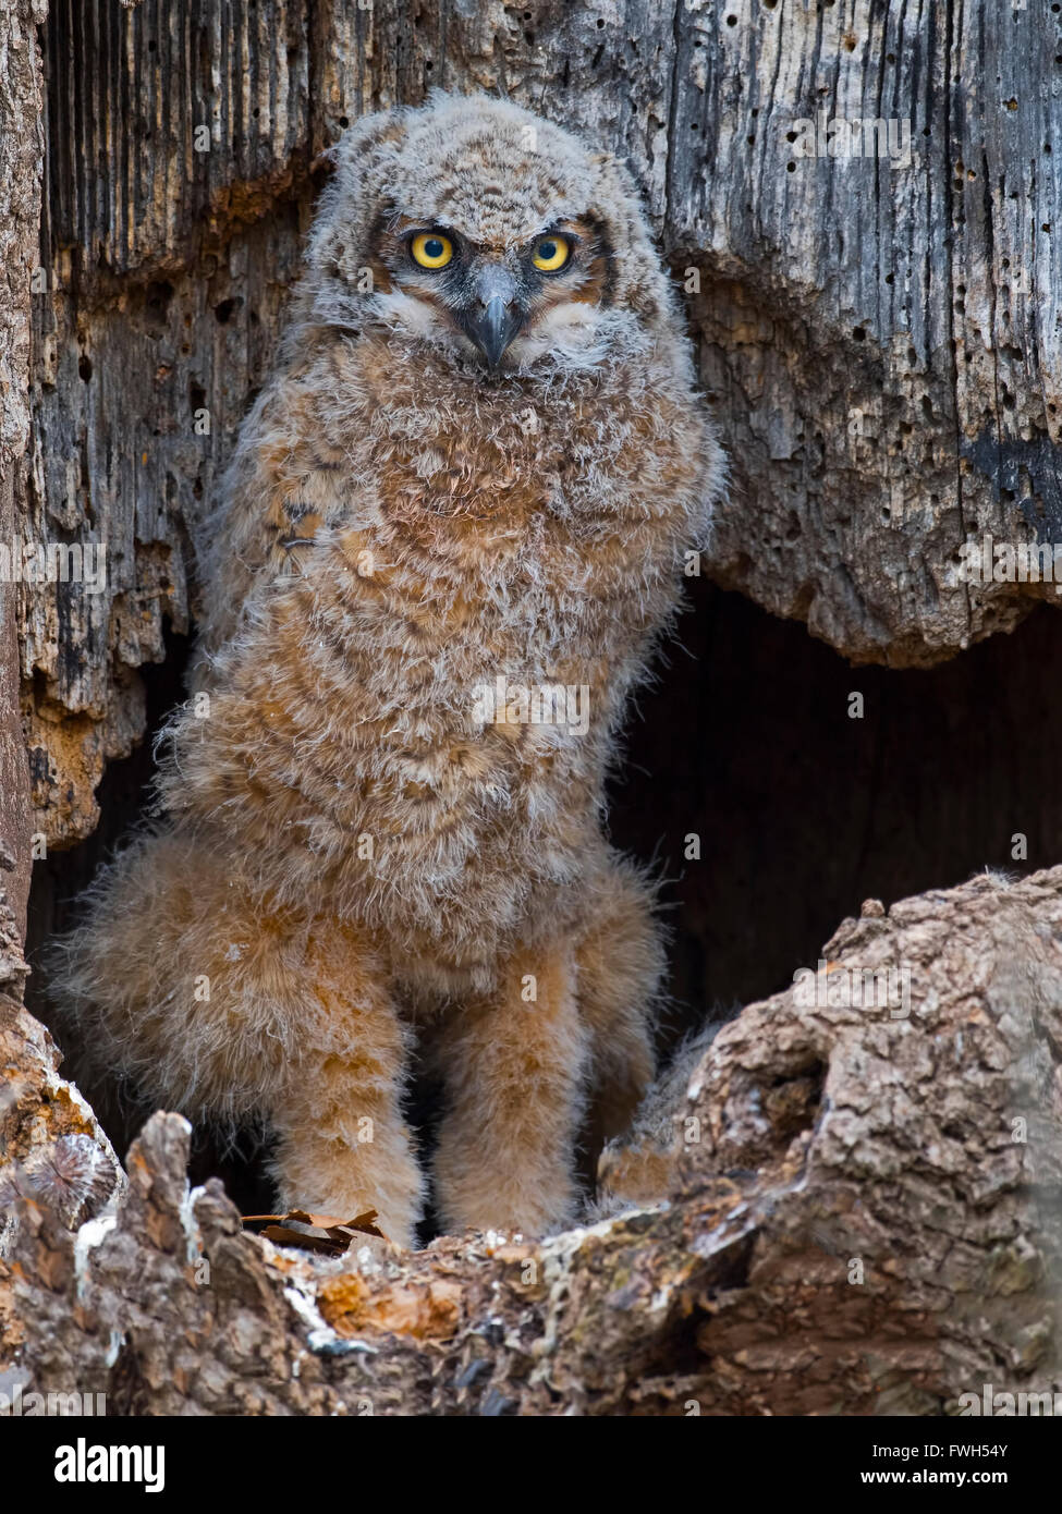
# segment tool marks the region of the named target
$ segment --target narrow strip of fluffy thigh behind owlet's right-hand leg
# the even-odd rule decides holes
[[[651,890],[617,861],[595,890],[592,921],[576,943],[579,1013],[589,1033],[588,1175],[606,1140],[626,1131],[653,1081],[653,1011],[665,969]]]

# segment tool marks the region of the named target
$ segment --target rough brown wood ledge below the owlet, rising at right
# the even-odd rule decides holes
[[[609,1151],[632,1207],[542,1243],[280,1251],[215,1179],[188,1193],[188,1126],[153,1116],[76,1234],[15,1201],[3,1379],[151,1414],[938,1414],[985,1382],[1062,1390],[1062,868],[868,901],[823,958],[823,1002],[745,1008]],[[909,996],[851,1007],[864,970],[906,970]]]

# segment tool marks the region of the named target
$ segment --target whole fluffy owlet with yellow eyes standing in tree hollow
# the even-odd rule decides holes
[[[333,160],[156,813],[56,993],[97,1073],[265,1120],[279,1204],[409,1246],[430,1179],[447,1229],[541,1235],[653,1075],[662,936],[604,783],[724,465],[615,157],[435,94]]]

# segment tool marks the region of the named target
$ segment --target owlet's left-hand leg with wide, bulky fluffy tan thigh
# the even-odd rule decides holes
[[[61,943],[55,990],[100,1083],[124,1072],[192,1119],[265,1114],[282,1202],[342,1219],[376,1208],[409,1243],[423,1179],[388,980],[368,936],[276,905],[221,845],[177,831],[111,868]]]

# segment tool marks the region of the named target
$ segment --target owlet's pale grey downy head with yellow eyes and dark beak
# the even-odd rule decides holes
[[[365,117],[308,257],[303,319],[379,327],[480,377],[595,368],[651,342],[671,295],[614,157],[501,100],[435,92]]]

